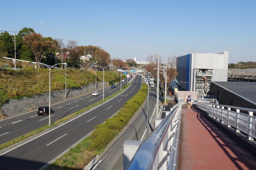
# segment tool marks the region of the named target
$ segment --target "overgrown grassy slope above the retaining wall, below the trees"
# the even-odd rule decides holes
[[[67,69],[67,88],[95,83],[94,71]],[[94,72],[95,73],[95,72]],[[102,71],[97,71],[98,81],[103,81]],[[105,71],[104,80],[120,81],[117,71]],[[65,89],[65,69],[51,69],[51,91]],[[49,69],[0,69],[0,106],[9,99],[31,97],[49,91]]]

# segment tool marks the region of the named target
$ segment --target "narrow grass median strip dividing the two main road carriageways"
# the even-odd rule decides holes
[[[128,87],[128,85],[125,85],[124,87],[122,87],[122,91],[124,91],[124,89],[126,89],[126,87]],[[106,101],[106,100],[108,100],[108,99],[110,99],[110,98],[116,96],[117,94],[121,93],[122,91],[118,91],[118,92],[114,93],[113,95],[110,95],[109,97],[106,97],[106,99],[105,99],[104,101]],[[62,122],[66,121],[66,120],[68,120],[68,119],[70,119],[70,118],[72,118],[72,117],[74,117],[74,116],[76,116],[76,115],[78,115],[78,114],[80,114],[80,113],[83,113],[83,112],[85,112],[85,111],[91,109],[92,107],[94,107],[94,106],[96,106],[96,105],[99,105],[100,103],[103,103],[104,101],[103,101],[103,100],[98,101],[97,103],[94,103],[94,104],[92,104],[92,105],[90,105],[90,106],[88,106],[88,107],[86,107],[86,108],[84,108],[84,109],[82,109],[82,110],[80,110],[80,111],[77,111],[77,112],[75,112],[75,113],[72,113],[71,115],[68,115],[67,117],[64,117],[64,118],[62,118],[62,119],[60,119],[60,120],[58,120],[58,121],[52,123],[50,127],[49,127],[48,125],[45,125],[45,126],[40,127],[40,128],[38,128],[38,129],[36,129],[36,130],[33,130],[33,131],[31,131],[31,132],[28,132],[28,133],[26,133],[26,134],[24,134],[24,135],[22,135],[22,136],[19,136],[19,137],[17,137],[17,138],[14,138],[14,139],[12,139],[12,140],[9,140],[8,142],[5,142],[5,143],[3,143],[3,144],[0,144],[0,150],[2,150],[2,149],[4,149],[4,148],[7,148],[8,146],[11,146],[11,145],[13,145],[13,144],[16,144],[16,143],[18,143],[18,142],[20,142],[20,141],[22,141],[22,140],[24,140],[24,139],[26,139],[26,138],[29,138],[30,136],[33,136],[33,135],[35,135],[35,134],[38,134],[39,132],[42,132],[42,131],[44,131],[44,130],[46,130],[46,129],[48,129],[48,128],[54,127],[54,126],[58,125],[59,123],[62,123]]]

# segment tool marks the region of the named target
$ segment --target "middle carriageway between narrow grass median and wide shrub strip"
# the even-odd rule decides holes
[[[114,115],[133,97],[141,87],[141,77],[136,76],[132,85],[114,99],[94,110],[80,115],[38,138],[31,140],[0,156],[0,169],[34,170],[66,151],[80,139],[89,134],[96,125]]]

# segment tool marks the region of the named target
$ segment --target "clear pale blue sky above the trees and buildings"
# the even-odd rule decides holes
[[[230,51],[229,63],[256,61],[256,0],[5,0],[0,30],[100,46],[111,58],[144,61]]]

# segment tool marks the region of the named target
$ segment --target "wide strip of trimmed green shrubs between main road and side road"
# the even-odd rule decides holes
[[[106,122],[97,125],[95,130],[82,142],[71,148],[47,167],[48,170],[83,169],[97,154],[102,152],[111,140],[130,121],[147,96],[147,85],[126,102],[124,107]]]

